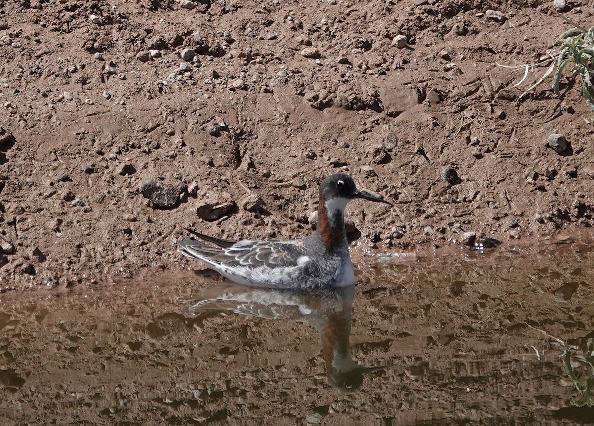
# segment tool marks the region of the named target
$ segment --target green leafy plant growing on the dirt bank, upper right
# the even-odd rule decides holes
[[[565,31],[557,39],[559,56],[557,58],[557,71],[553,76],[553,91],[560,96],[559,83],[563,70],[573,62],[571,72],[579,75],[582,80],[582,95],[586,105],[594,111],[594,27],[586,30],[583,27],[574,27]]]

